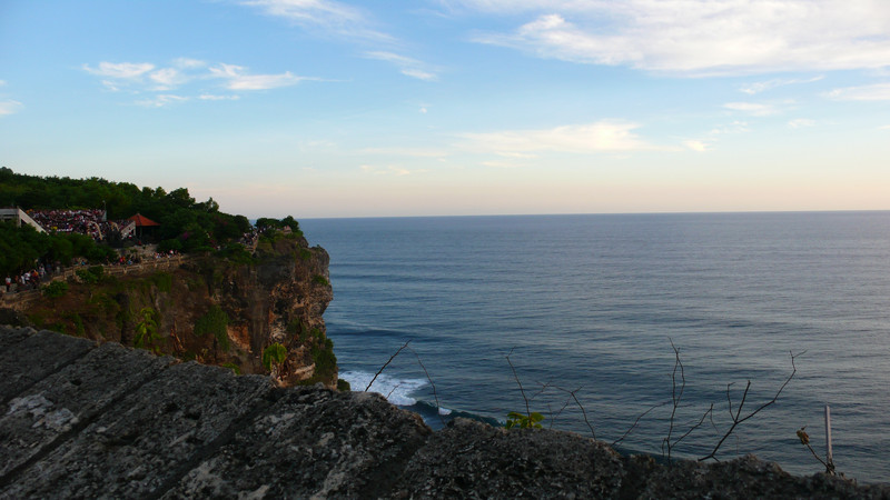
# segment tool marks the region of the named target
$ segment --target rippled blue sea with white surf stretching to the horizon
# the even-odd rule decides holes
[[[794,473],[821,466],[831,406],[838,470],[890,481],[890,212],[316,219],[330,253],[325,313],[342,377],[433,426],[474,414],[504,421],[525,402],[545,427],[619,439],[662,454],[670,429],[673,341],[686,384],[673,457],[753,452]],[[418,364],[418,358],[429,374]],[[435,384],[431,384],[429,380]],[[678,372],[676,390],[680,389]],[[435,396],[434,396],[435,387]]]

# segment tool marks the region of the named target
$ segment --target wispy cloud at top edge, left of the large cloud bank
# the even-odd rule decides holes
[[[238,3],[260,9],[268,16],[286,19],[304,28],[322,29],[338,37],[392,39],[373,28],[374,23],[365,11],[334,0],[246,0]]]

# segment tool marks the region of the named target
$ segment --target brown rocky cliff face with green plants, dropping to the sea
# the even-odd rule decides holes
[[[273,371],[281,386],[336,387],[322,317],[333,299],[328,262],[327,252],[301,234],[275,232],[253,252],[80,268],[59,297],[26,292],[4,303],[37,328],[238,373]],[[277,356],[269,349],[276,344]]]

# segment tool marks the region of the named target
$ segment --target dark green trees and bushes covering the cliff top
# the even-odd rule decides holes
[[[138,188],[129,182],[101,178],[71,179],[16,173],[0,168],[0,207],[22,210],[106,210],[108,220],[122,220],[136,213],[160,226],[140,234],[142,241],[158,243],[158,250],[202,251],[237,242],[253,227],[245,216],[225,213],[212,198],[196,201],[186,188],[167,192],[164,188]],[[290,227],[299,231],[293,217],[283,220],[259,219],[257,228]],[[46,228],[44,228],[46,229]],[[39,233],[30,227],[0,224],[0,273],[14,274],[38,261],[69,264],[73,259],[105,262],[117,253],[109,246],[125,241],[97,244],[92,238],[78,233]],[[131,244],[131,243],[130,243]]]

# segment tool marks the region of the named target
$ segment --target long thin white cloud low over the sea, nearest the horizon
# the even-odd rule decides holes
[[[501,156],[542,151],[594,153],[663,149],[636,136],[634,130],[637,128],[639,124],[631,122],[597,121],[546,130],[506,130],[466,133],[463,137],[471,150]]]

